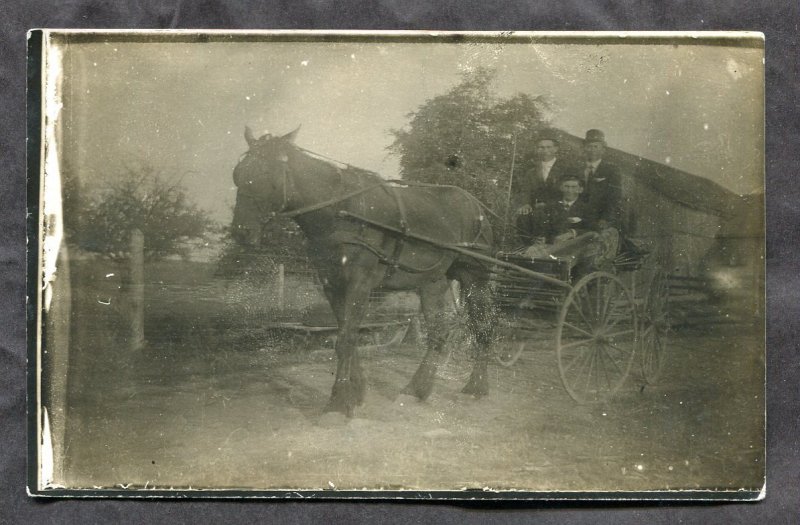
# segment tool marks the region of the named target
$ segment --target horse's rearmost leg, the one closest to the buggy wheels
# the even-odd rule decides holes
[[[489,393],[488,364],[497,316],[488,282],[464,279],[462,286],[466,290],[467,325],[475,339],[476,357],[472,374],[461,392],[483,397]]]

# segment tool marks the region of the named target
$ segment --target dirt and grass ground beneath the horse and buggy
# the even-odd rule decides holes
[[[419,402],[400,395],[421,359],[418,345],[365,348],[368,394],[347,419],[322,412],[335,367],[330,341],[323,334],[298,344],[271,329],[274,291],[215,280],[208,269],[151,280],[148,346],[131,353],[122,313],[104,298],[118,298],[118,283],[104,277],[114,272],[85,266],[73,288],[63,479],[71,488],[762,485],[764,349],[752,326],[674,331],[659,384],[646,385],[634,367],[600,405],[569,397],[548,330],[513,366],[491,367],[492,391],[482,399],[460,393],[472,365],[464,352]],[[297,304],[282,312],[313,295],[297,285],[284,298]]]

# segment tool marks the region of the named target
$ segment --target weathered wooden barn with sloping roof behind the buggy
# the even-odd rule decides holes
[[[559,156],[582,165],[583,139],[556,133]],[[668,271],[673,300],[695,301],[685,317],[763,318],[764,194],[740,196],[613,147],[605,159],[620,170],[624,234]]]

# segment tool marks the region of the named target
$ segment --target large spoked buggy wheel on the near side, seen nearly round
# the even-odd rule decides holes
[[[633,296],[614,275],[587,275],[567,295],[556,327],[561,381],[578,403],[599,402],[630,373],[638,324]]]

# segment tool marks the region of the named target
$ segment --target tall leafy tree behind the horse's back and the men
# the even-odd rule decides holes
[[[391,130],[390,152],[400,157],[404,179],[452,184],[469,191],[499,216],[506,213],[512,157],[515,173],[528,162],[535,135],[549,125],[544,96],[492,94],[495,73],[478,68],[461,83],[410,113]]]

